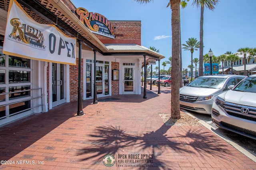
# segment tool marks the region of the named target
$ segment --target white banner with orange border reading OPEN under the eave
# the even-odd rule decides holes
[[[76,65],[76,38],[55,25],[40,24],[10,0],[3,53],[26,59]]]

